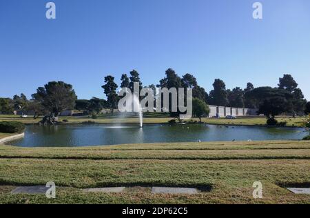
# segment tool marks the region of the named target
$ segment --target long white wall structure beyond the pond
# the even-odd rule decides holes
[[[231,108],[223,106],[209,106],[209,117],[226,117],[228,115],[236,117],[257,116],[258,109],[254,108]]]

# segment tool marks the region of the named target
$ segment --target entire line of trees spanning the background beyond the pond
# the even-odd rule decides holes
[[[136,70],[132,70],[130,75],[121,75],[121,88],[129,88],[134,91],[134,83],[139,83],[140,90],[143,88],[140,75]],[[284,75],[279,79],[278,87],[258,87],[254,88],[252,83],[247,83],[247,87],[242,89],[236,87],[232,90],[226,88],[225,82],[215,79],[214,89],[209,93],[198,85],[194,75],[189,73],[179,77],[176,72],[169,68],[165,72],[165,77],[152,88],[156,98],[157,88],[192,88],[194,98],[194,112],[197,117],[209,113],[209,105],[230,106],[236,108],[259,108],[259,113],[267,117],[275,117],[284,112],[291,115],[304,115],[310,113],[310,102],[307,102],[302,95],[302,90],[298,88],[298,83],[291,75]],[[28,100],[25,95],[14,95],[12,99],[0,98],[0,112],[12,113],[13,110],[32,110],[34,117],[50,114],[57,117],[63,110],[73,109],[83,110],[89,114],[100,112],[103,108],[110,108],[113,112],[117,108],[119,97],[117,95],[118,85],[114,77],[108,75],[104,78],[103,92],[107,99],[93,97],[90,100],[77,99],[72,85],[63,81],[52,81],[43,87],[37,88],[37,92]],[[186,90],[186,89],[185,89]],[[186,93],[185,93],[186,95]],[[154,99],[155,101],[155,99]],[[171,106],[171,103],[169,103]],[[171,112],[171,117],[179,117],[180,112]]]

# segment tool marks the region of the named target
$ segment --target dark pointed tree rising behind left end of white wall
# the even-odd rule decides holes
[[[227,90],[223,80],[216,79],[213,83],[214,90],[209,94],[209,103],[216,106],[227,106]]]

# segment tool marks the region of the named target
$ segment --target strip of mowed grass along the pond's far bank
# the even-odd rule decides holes
[[[100,115],[97,119],[92,119],[91,117],[59,117],[59,121],[67,119],[67,124],[78,124],[85,121],[94,121],[96,123],[138,123],[138,116],[127,116],[122,117],[118,114],[114,115]],[[167,123],[171,120],[171,117],[168,117],[167,113],[163,112],[152,112],[145,113],[143,115],[143,123]],[[38,123],[41,119],[33,119],[31,116],[27,118],[21,118],[17,115],[0,115],[0,121],[21,121],[23,123]],[[193,121],[198,121],[197,118],[192,118]],[[280,122],[287,122],[287,126],[302,126],[303,117],[277,117],[277,120]],[[267,119],[265,117],[238,117],[238,119],[214,119],[206,118],[202,119],[203,122],[208,124],[218,124],[218,125],[246,125],[246,126],[265,126]]]

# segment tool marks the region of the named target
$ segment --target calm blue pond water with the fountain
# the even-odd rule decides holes
[[[232,141],[302,139],[303,128],[265,128],[213,125],[124,124],[27,126],[25,137],[10,144],[37,146],[97,146],[122,143],[152,143],[181,141]]]

